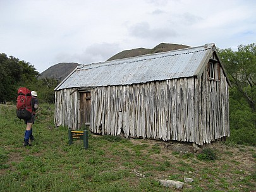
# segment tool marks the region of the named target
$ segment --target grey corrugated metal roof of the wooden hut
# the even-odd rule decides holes
[[[131,85],[198,75],[214,44],[78,66],[56,90]],[[201,66],[202,67],[202,66]]]

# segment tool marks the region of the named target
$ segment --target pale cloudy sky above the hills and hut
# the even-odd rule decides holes
[[[0,53],[42,73],[161,43],[237,51],[256,42],[255,10],[254,0],[0,0]]]

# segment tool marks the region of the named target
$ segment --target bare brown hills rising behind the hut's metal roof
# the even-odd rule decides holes
[[[188,48],[188,47],[189,46],[186,46],[186,45],[162,43],[162,44],[155,46],[153,49],[137,48],[137,49],[121,51],[118,54],[115,54],[114,56],[107,59],[107,61],[111,61],[111,60],[115,60],[115,59],[123,59],[123,58],[128,58],[128,57],[142,56],[142,55],[152,54],[152,53],[157,53],[157,52],[173,51],[173,50],[184,49],[184,48]],[[55,65],[51,66],[50,68],[46,69],[46,71],[42,72],[39,76],[39,79],[55,78],[55,79],[62,81],[78,65],[80,65],[80,64],[78,64],[78,63],[55,64]]]

